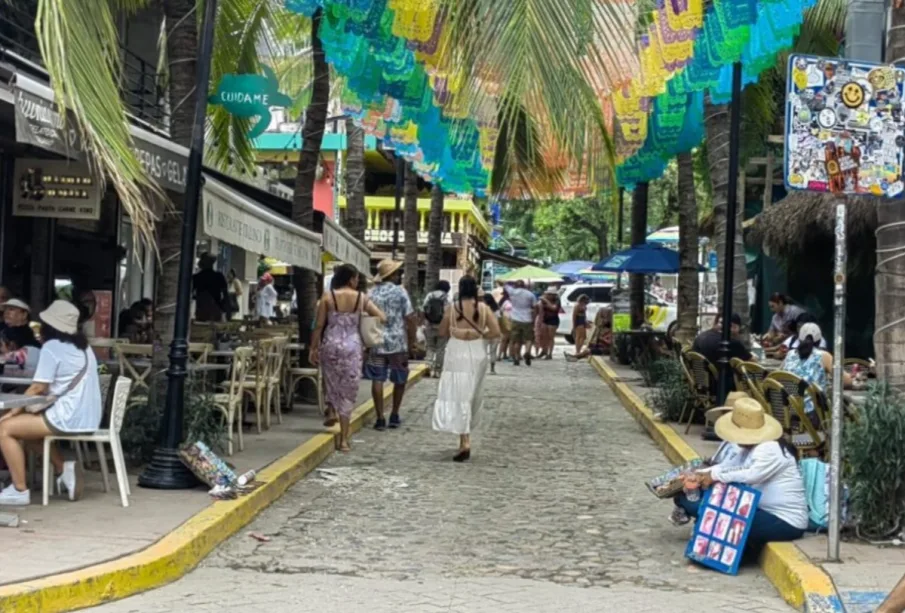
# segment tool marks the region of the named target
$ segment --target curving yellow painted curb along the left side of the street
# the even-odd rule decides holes
[[[408,384],[427,372],[417,366]],[[393,393],[386,386],[385,398]],[[352,416],[357,432],[374,411],[360,405]],[[179,579],[217,545],[238,532],[277,500],[292,484],[323,462],[334,450],[335,434],[316,434],[258,473],[262,485],[242,498],[207,507],[150,547],[116,560],[59,575],[0,587],[0,612],[56,613],[96,606],[160,587]]]

